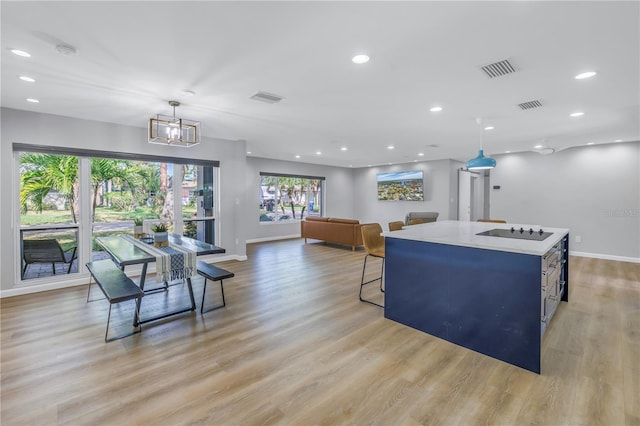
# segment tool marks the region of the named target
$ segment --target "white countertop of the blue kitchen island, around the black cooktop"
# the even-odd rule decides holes
[[[476,235],[479,232],[490,229],[520,229],[525,231],[533,229],[544,232],[552,232],[542,241],[521,240],[516,238],[490,237]],[[558,241],[562,239],[568,229],[548,228],[546,226],[520,224],[520,223],[488,223],[488,222],[459,222],[456,220],[443,220],[420,225],[405,226],[401,231],[383,232],[387,238],[400,238],[404,240],[425,241],[430,243],[450,244],[454,246],[475,247],[488,250],[508,251],[513,253],[544,255]]]

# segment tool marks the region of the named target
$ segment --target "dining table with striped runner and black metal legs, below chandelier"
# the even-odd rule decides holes
[[[140,279],[138,285],[142,291],[145,291],[145,281],[147,275],[147,267],[150,263],[155,263],[158,259],[157,248],[153,247],[152,238],[139,238],[136,239],[130,235],[112,235],[106,237],[96,238],[96,243],[99,244],[108,254],[111,259],[122,269],[125,270],[126,266],[130,265],[142,265],[142,271],[140,272]],[[207,254],[220,254],[225,253],[225,249],[213,244],[205,243],[203,241],[196,240],[194,238],[185,237],[179,234],[169,234],[169,248],[173,252],[182,251],[184,253],[193,253],[196,256],[202,256]],[[146,318],[136,318],[134,320],[134,326],[144,324],[150,321],[156,321],[172,315],[178,315],[184,312],[195,311],[196,302],[193,296],[193,286],[191,284],[191,275],[195,274],[195,268],[190,271],[189,274],[184,274],[182,278],[187,283],[187,289],[189,290],[190,306],[182,307],[169,312],[161,311],[157,315],[149,316]],[[165,282],[165,287],[168,288]],[[157,291],[153,289],[151,291]],[[148,291],[147,291],[148,292]],[[140,305],[142,299],[138,299]],[[140,311],[141,306],[138,306]]]

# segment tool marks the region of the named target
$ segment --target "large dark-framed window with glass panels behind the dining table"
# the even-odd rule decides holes
[[[90,242],[131,234],[135,220],[215,244],[215,161],[20,144],[14,151],[23,280],[78,272],[100,250]]]

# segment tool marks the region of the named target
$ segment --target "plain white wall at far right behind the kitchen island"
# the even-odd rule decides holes
[[[572,252],[640,261],[640,142],[495,158],[491,217],[569,228]]]

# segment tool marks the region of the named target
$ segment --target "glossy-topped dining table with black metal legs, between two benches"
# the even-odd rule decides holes
[[[138,245],[134,244],[128,238],[125,238],[121,235],[113,235],[108,237],[98,237],[96,238],[96,242],[111,256],[111,259],[124,271],[125,266],[129,265],[142,265],[142,271],[140,272],[140,280],[139,286],[142,291],[144,291],[144,285],[147,275],[147,266],[149,263],[153,263],[156,261],[156,257]],[[198,256],[206,255],[206,254],[219,254],[225,253],[226,250],[222,247],[218,247],[213,244],[205,243],[193,238],[184,237],[178,234],[169,234],[169,243],[171,245],[180,246],[184,249],[191,250],[196,253]],[[166,318],[171,315],[181,314],[183,312],[195,311],[196,310],[196,302],[193,296],[193,287],[191,285],[191,277],[186,277],[187,288],[189,290],[189,297],[191,300],[191,305],[185,308],[181,308],[178,310],[174,310],[171,312],[161,312],[158,315],[148,317],[148,318],[140,318],[138,321],[135,321],[134,326],[138,326],[138,324],[143,324],[149,321],[155,321],[158,319]],[[166,288],[167,286],[165,286]],[[144,297],[142,298],[144,299]],[[139,299],[142,303],[142,299]],[[140,308],[140,307],[139,307]]]

